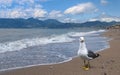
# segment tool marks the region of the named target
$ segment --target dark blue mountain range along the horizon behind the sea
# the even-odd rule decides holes
[[[106,28],[120,24],[120,22],[92,21],[85,23],[62,23],[55,19],[39,20],[35,18],[0,18],[0,28],[75,28],[75,27],[98,27]]]

